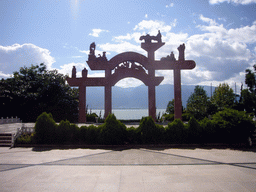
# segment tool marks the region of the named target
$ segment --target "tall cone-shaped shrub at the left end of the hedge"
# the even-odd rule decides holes
[[[55,139],[56,123],[51,113],[43,112],[35,124],[35,140],[39,144],[51,144]]]

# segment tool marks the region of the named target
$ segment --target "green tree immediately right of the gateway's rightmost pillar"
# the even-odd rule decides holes
[[[197,85],[187,101],[187,112],[194,115],[196,119],[203,119],[207,116],[209,103],[206,91],[202,86]]]

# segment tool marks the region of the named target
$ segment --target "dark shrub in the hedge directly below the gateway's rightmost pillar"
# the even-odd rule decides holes
[[[180,119],[175,119],[168,124],[166,129],[167,143],[184,143],[187,140],[187,131],[185,125]]]

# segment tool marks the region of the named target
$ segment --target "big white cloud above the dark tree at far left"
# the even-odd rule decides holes
[[[31,64],[44,63],[51,69],[55,59],[50,54],[48,49],[33,44],[0,46],[0,77],[9,76],[14,71],[19,71],[20,67],[30,67]]]

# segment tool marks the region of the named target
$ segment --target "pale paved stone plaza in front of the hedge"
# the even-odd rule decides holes
[[[255,191],[256,153],[0,148],[1,191]]]

